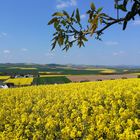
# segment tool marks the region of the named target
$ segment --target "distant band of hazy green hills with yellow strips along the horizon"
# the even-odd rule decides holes
[[[129,74],[140,73],[138,68],[75,66],[75,65],[38,65],[38,64],[0,64],[0,75],[97,75],[97,74]]]

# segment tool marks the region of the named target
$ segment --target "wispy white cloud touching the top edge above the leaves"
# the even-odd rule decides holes
[[[77,0],[58,0],[58,4],[56,5],[57,9],[62,9],[66,8],[69,6],[76,6],[77,5]]]

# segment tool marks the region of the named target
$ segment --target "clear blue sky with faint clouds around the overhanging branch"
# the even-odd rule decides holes
[[[91,37],[86,47],[74,46],[68,52],[51,51],[53,27],[47,26],[56,11],[80,9],[86,24],[90,3],[115,15],[113,0],[0,0],[0,63],[59,63],[91,65],[140,65],[140,19],[122,31],[120,25],[106,30],[103,41]]]

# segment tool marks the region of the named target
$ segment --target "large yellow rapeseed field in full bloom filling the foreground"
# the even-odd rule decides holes
[[[140,79],[0,90],[0,140],[138,140]]]

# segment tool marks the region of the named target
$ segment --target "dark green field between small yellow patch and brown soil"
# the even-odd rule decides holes
[[[34,78],[33,84],[42,85],[42,84],[62,84],[70,83],[71,81],[65,76],[55,76],[55,77],[39,77]]]

